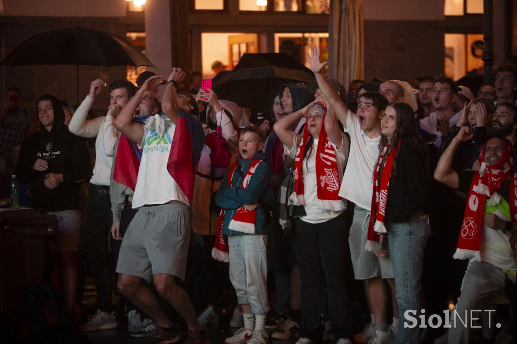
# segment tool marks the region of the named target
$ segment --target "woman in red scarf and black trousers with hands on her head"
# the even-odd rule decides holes
[[[290,130],[307,117],[302,135]],[[322,102],[285,116],[273,127],[286,155],[295,160],[294,189],[289,203],[294,217],[293,240],[301,278],[301,324],[297,344],[319,341],[322,293],[321,268],[327,282],[334,342],[351,344],[353,318],[346,307],[345,254],[348,247],[345,202],[339,187],[348,158],[349,141],[336,115]]]

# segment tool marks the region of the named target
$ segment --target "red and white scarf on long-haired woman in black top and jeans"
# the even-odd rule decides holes
[[[400,144],[402,140],[393,147],[388,155],[388,159],[384,161],[383,171],[381,180],[379,181],[379,170],[381,169],[381,163],[384,160],[384,156],[388,150],[389,143],[384,146],[375,169],[373,170],[373,194],[372,194],[372,207],[370,210],[370,223],[368,225],[366,251],[379,252],[381,247],[379,241],[381,240],[381,234],[386,234],[386,226],[384,224],[386,218],[386,204],[388,202],[388,189],[389,180],[391,178],[391,171],[393,170],[393,164],[397,157]]]

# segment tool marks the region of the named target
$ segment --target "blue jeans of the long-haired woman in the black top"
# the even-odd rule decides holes
[[[404,312],[408,309],[421,314],[422,308],[422,269],[423,252],[431,234],[428,216],[413,216],[409,222],[387,225],[389,255],[393,263],[397,303],[399,304],[400,330],[395,344],[418,344],[422,342],[425,332],[418,326],[414,329],[405,327]]]

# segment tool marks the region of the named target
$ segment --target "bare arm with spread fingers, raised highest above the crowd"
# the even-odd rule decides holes
[[[314,72],[314,76],[316,76],[318,87],[320,87],[320,90],[327,99],[327,102],[334,109],[334,112],[341,121],[341,124],[343,124],[343,127],[346,128],[346,116],[348,114],[348,107],[341,100],[338,91],[336,91],[336,89],[330,85],[322,73],[322,68],[327,64],[327,61],[320,62],[320,48],[313,45],[312,56],[309,54],[307,54],[307,56],[309,58],[311,70]]]

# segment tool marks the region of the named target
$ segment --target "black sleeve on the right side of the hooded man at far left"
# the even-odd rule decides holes
[[[92,177],[92,165],[85,140],[75,138],[70,159],[69,169],[63,173],[63,182],[70,185],[88,181]]]

